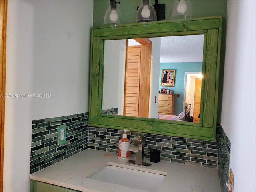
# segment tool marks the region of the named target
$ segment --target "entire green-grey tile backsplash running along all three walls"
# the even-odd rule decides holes
[[[57,128],[61,124],[67,126],[67,142],[57,145]],[[123,130],[89,127],[88,113],[33,120],[30,173],[87,148],[118,153],[118,140],[122,133]],[[127,134],[131,139],[140,132],[128,131]],[[144,137],[145,157],[149,157],[150,149],[159,149],[160,160],[218,168],[220,182],[225,185],[230,160],[230,141],[220,125],[216,128],[216,141],[149,133],[144,133]]]

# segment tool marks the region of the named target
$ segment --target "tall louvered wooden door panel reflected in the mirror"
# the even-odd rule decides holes
[[[126,82],[124,115],[138,117],[140,88],[141,46],[128,46],[126,56]]]

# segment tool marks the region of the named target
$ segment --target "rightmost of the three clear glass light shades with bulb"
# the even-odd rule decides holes
[[[170,20],[191,20],[193,10],[190,0],[175,0],[172,4]]]

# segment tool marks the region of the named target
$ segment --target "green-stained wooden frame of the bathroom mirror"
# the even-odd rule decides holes
[[[125,24],[122,28],[93,27],[91,30],[89,126],[215,140],[220,68],[222,17],[191,21],[156,21]],[[170,121],[102,114],[104,40],[204,34],[200,122]]]

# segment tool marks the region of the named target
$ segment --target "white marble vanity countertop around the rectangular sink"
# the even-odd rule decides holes
[[[144,162],[150,167],[127,164],[129,159],[118,158],[117,153],[87,149],[65,160],[30,174],[30,179],[83,192],[145,192],[144,190],[120,186],[88,178],[106,165],[132,168],[146,172],[167,172],[159,192],[220,192],[218,170],[214,168],[186,165],[160,160],[152,163],[149,158]]]

